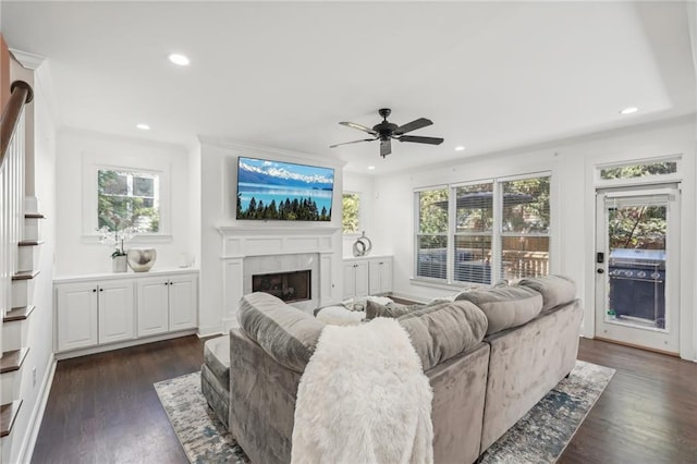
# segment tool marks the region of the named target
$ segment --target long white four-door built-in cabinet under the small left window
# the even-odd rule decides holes
[[[137,344],[198,326],[198,271],[62,278],[53,285],[58,353]]]

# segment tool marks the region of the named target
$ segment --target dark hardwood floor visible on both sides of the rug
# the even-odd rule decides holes
[[[697,364],[595,340],[617,369],[560,463],[696,463]],[[35,463],[186,463],[152,383],[200,368],[196,337],[61,361]]]

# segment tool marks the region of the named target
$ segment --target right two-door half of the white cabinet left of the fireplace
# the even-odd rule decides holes
[[[195,276],[163,276],[136,281],[138,337],[197,326]]]

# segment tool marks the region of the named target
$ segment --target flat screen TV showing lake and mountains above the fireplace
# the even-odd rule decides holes
[[[237,219],[330,221],[334,170],[237,159]]]

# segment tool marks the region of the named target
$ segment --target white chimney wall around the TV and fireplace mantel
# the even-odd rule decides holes
[[[235,219],[237,157],[281,160],[304,164],[323,166],[334,169],[334,196],[332,199],[332,220],[327,223],[303,221],[237,221]],[[266,147],[201,141],[201,264],[200,264],[200,307],[199,328],[201,335],[223,331],[223,260],[222,235],[219,227],[259,228],[269,232],[273,228],[294,228],[311,230],[317,228],[335,229],[335,243],[332,282],[342,284],[341,268],[341,192],[342,166],[321,160],[306,154],[292,152]],[[341,295],[341,288],[338,294]]]

